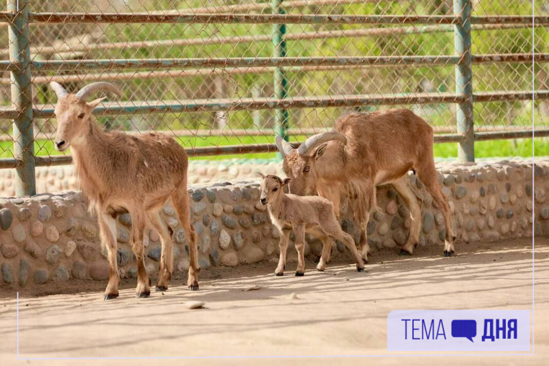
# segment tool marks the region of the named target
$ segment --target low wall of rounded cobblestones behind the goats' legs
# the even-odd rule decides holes
[[[264,168],[261,170],[265,172]],[[549,199],[546,197],[549,160],[538,160],[534,166],[528,161],[444,164],[438,165],[438,170],[442,189],[450,199],[458,237],[457,254],[460,241],[531,237],[533,220],[534,234],[549,236]],[[531,181],[533,172],[535,189]],[[425,196],[417,251],[421,253],[425,245],[439,245],[442,252],[442,215],[416,176],[411,174],[410,181]],[[258,188],[255,181],[189,189],[201,268],[276,261],[279,234],[270,223],[265,206],[258,202]],[[380,187],[378,205],[383,212],[374,213],[367,227],[372,250],[404,244],[410,217],[400,196],[390,186]],[[172,207],[164,207],[162,217],[174,232],[175,271],[186,271],[189,265],[186,239]],[[130,226],[131,218],[120,216],[117,258],[123,277],[136,277],[136,262],[128,243]],[[346,220],[343,227],[357,237],[354,223]],[[158,233],[150,232],[145,245],[148,271],[157,272]],[[320,241],[307,238],[307,256],[317,258],[320,250]],[[2,280],[11,286],[40,285],[71,278],[108,278],[108,263],[99,244],[96,217],[89,215],[85,200],[77,193],[0,199],[0,251]],[[289,251],[293,253],[295,250]],[[343,245],[337,245],[334,255],[348,253]],[[274,264],[267,265],[274,269]]]

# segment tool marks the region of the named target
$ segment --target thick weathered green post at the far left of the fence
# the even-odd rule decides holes
[[[32,85],[29,39],[29,1],[8,0],[8,11],[15,14],[8,24],[9,59],[19,69],[10,72],[12,104],[18,111],[13,120],[15,195],[35,195],[34,133],[32,128]]]

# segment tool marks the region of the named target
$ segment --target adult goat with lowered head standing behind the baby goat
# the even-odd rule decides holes
[[[333,131],[311,136],[298,149],[276,137],[284,155],[283,170],[292,181],[289,191],[318,194],[334,204],[348,197],[355,220],[361,225],[360,251],[368,261],[366,224],[376,206],[376,186],[391,183],[410,208],[410,235],[401,254],[412,254],[421,231],[418,194],[407,173],[417,173],[444,215],[444,255],[454,252],[450,206],[438,183],[433,156],[433,128],[408,109],[350,113],[341,116]]]

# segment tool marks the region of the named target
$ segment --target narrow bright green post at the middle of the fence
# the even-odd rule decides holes
[[[281,7],[283,0],[271,0],[271,8],[273,14],[285,14],[285,10]],[[273,25],[273,57],[286,57],[286,25]],[[275,98],[284,99],[288,97],[288,80],[282,67],[275,68],[273,76],[273,88],[275,89]],[[277,126],[277,134],[284,140],[288,141],[288,120],[289,114],[287,109],[277,109],[275,114],[275,123]],[[277,153],[282,158],[280,153]]]

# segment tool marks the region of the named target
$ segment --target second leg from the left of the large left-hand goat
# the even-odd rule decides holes
[[[130,240],[132,243],[132,251],[136,256],[137,261],[137,289],[136,297],[149,297],[149,275],[145,267],[145,247],[143,245],[143,237],[145,231],[145,212],[144,210],[130,210],[132,217],[132,229],[130,232]]]

